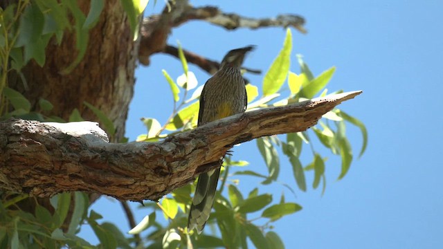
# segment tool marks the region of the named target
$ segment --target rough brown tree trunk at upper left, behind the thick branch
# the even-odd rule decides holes
[[[90,1],[78,1],[80,9],[87,13]],[[62,44],[49,42],[46,48],[46,64],[43,68],[31,61],[23,73],[27,87],[10,78],[12,88],[23,93],[33,110],[38,111],[38,100],[49,100],[54,109],[48,116],[68,120],[73,109],[79,109],[86,120],[98,118],[83,102],[107,114],[116,126],[116,140],[123,138],[129,102],[134,91],[134,70],[138,46],[125,11],[118,0],[105,1],[105,7],[96,26],[89,32],[87,52],[82,62],[67,75],[62,71],[78,55],[75,49],[75,33],[65,33]]]

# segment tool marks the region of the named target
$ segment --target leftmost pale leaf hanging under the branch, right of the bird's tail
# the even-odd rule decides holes
[[[257,138],[257,147],[260,150],[260,154],[268,167],[269,177],[262,184],[269,184],[271,181],[275,181],[278,178],[280,172],[280,161],[278,159],[277,150],[273,147],[268,138]]]

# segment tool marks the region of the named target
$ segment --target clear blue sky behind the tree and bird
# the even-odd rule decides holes
[[[163,8],[163,1],[155,7],[153,3],[149,3],[146,15]],[[327,163],[324,196],[318,190],[297,192],[296,196],[285,192],[287,201],[303,206],[301,212],[275,224],[287,248],[443,248],[443,1],[191,3],[217,5],[246,17],[302,15],[309,33],[292,30],[291,69],[298,73],[295,55],[300,53],[314,74],[337,67],[328,86],[331,91],[363,90],[362,95],[340,108],[366,124],[368,149],[361,159],[354,160],[342,181],[335,180],[339,161]],[[226,32],[191,21],[174,29],[169,43],[176,44],[177,39],[184,48],[212,59],[221,59],[232,48],[255,44],[257,49],[244,65],[266,71],[282,46],[284,29]],[[165,122],[172,110],[172,97],[161,69],[176,78],[181,64],[168,55],[154,55],[151,62],[151,66],[140,66],[136,71],[135,95],[127,121],[130,140],[145,133],[141,117]],[[199,84],[209,77],[195,66],[190,70],[196,73]],[[260,85],[263,75],[247,77]],[[348,132],[357,154],[361,135],[351,127]],[[255,142],[235,149],[235,156],[265,171]],[[310,160],[307,157],[302,163]],[[289,162],[284,158],[281,161],[279,180],[295,187]],[[242,181],[240,188],[248,191],[252,184]],[[286,191],[280,185],[272,187],[269,191],[273,193]],[[134,210],[137,206],[132,205]],[[129,230],[116,201],[102,198],[93,209],[104,212],[105,220]],[[136,210],[138,221],[145,212]],[[85,228],[82,234],[87,233]]]

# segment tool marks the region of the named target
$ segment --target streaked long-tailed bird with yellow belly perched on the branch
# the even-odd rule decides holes
[[[246,111],[248,98],[241,66],[246,53],[255,46],[230,50],[221,60],[219,70],[205,83],[200,95],[197,127]],[[188,231],[201,234],[215,201],[220,167],[199,175],[188,217]]]

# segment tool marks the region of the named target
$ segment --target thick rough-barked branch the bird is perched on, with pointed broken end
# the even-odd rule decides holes
[[[88,132],[64,131],[85,122],[0,122],[0,186],[40,197],[80,190],[120,200],[157,200],[219,166],[217,160],[233,145],[304,131],[360,93],[248,111],[152,143],[109,143],[94,127]]]

